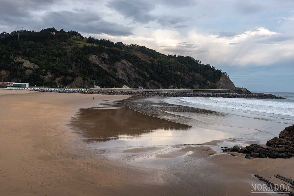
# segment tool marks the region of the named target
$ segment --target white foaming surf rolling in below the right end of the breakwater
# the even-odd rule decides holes
[[[294,124],[294,93],[263,92],[287,99],[240,99],[218,97],[172,97],[163,101],[170,104],[185,105],[245,117],[266,119]]]

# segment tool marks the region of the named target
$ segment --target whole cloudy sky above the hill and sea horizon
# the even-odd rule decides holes
[[[84,36],[189,55],[238,87],[294,92],[292,0],[0,0],[0,31],[76,30]]]

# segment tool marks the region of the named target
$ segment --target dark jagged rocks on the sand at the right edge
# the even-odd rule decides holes
[[[223,152],[245,153],[245,158],[289,158],[294,156],[294,125],[286,127],[280,132],[279,137],[270,139],[264,148],[258,144],[251,144],[245,148],[234,146],[233,148],[222,147]]]

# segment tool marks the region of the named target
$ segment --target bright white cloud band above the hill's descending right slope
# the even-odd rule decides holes
[[[165,54],[190,55],[212,65],[260,66],[272,65],[279,61],[294,60],[293,40],[276,41],[272,44],[269,38],[278,40],[281,33],[264,27],[253,28],[234,37],[219,37],[215,34],[204,34],[190,31],[187,36],[175,30],[158,29],[150,36],[109,36],[93,35],[124,43],[136,43],[158,50]],[[235,43],[235,44],[232,44]]]

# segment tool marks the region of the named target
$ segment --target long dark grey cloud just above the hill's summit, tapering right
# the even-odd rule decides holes
[[[47,13],[43,20],[48,26],[76,30],[85,33],[105,33],[112,36],[132,35],[131,28],[103,20],[88,10],[60,11]]]

